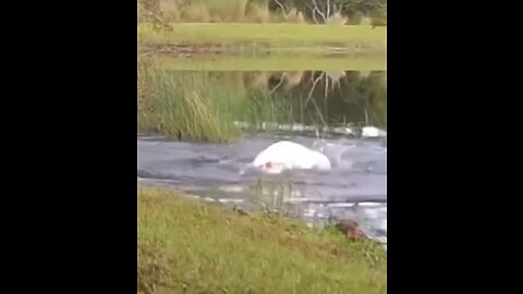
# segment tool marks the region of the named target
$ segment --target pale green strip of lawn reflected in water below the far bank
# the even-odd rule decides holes
[[[166,69],[190,71],[385,71],[387,57],[275,54],[267,57],[155,58]]]

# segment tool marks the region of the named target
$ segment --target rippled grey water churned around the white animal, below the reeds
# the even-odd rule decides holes
[[[321,224],[329,217],[361,222],[367,234],[387,237],[387,147],[377,139],[324,139],[329,172],[282,175],[242,173],[280,139],[312,147],[314,137],[265,135],[233,144],[202,144],[138,135],[138,182],[172,186],[209,201],[246,209],[260,205]]]

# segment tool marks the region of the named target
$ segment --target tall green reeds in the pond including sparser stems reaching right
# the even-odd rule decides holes
[[[256,125],[292,120],[285,100],[247,89],[241,72],[212,76],[203,71],[172,72],[157,63],[138,64],[139,132],[229,143],[240,135],[234,121]]]

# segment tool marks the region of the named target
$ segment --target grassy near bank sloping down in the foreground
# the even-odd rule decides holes
[[[333,230],[138,189],[141,293],[387,293],[387,255]]]

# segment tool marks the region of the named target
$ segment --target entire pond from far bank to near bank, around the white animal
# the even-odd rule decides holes
[[[387,243],[385,58],[284,60],[156,57],[159,70],[148,83],[157,99],[138,97],[138,183],[247,211],[277,210],[311,225],[353,219],[370,237]],[[187,93],[191,101],[200,101],[198,113],[206,114],[198,118],[208,120],[208,126],[187,123],[191,103],[177,102]],[[169,132],[166,125],[179,127]],[[212,134],[233,139],[192,139],[194,132],[210,136],[205,131],[210,126]],[[158,134],[162,130],[170,136]],[[282,139],[321,146],[333,169],[279,176],[245,173],[259,151]]]

